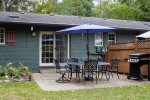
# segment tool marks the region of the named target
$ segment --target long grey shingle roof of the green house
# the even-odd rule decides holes
[[[150,22],[143,21],[20,12],[0,12],[0,23],[22,23],[38,25],[95,24],[121,29],[150,30]]]

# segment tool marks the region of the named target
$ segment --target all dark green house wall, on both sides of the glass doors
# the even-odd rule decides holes
[[[31,67],[33,72],[39,72],[39,31],[56,30],[56,28],[36,26],[36,36],[31,36],[30,25],[0,25],[6,28],[7,31],[13,30],[15,32],[16,43],[13,46],[1,45],[0,46],[0,65],[5,65],[8,62],[13,62],[18,65],[19,62]],[[137,31],[117,31],[117,42],[126,42],[135,40]],[[95,35],[89,35],[90,53],[96,53],[94,46]],[[6,34],[7,38],[7,34]],[[103,34],[104,48],[108,44],[108,33]],[[70,56],[79,59],[87,57],[87,36],[86,34],[71,34],[70,35]],[[90,58],[98,58],[99,55],[90,55]]]

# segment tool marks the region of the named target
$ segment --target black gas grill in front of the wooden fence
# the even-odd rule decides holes
[[[128,79],[136,78],[142,80],[140,67],[148,65],[148,81],[150,80],[150,54],[148,53],[134,53],[129,55],[130,71]]]

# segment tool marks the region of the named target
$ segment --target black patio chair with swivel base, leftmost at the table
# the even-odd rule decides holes
[[[68,80],[65,75],[66,73],[70,73],[70,70],[68,68],[65,67],[61,67],[59,64],[59,61],[57,59],[54,59],[55,65],[56,65],[56,73],[60,73],[61,77],[56,80],[56,82],[58,83],[66,83],[66,82],[70,82],[70,80]]]

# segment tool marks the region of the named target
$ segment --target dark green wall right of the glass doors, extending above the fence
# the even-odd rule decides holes
[[[137,35],[137,31],[129,31],[129,30],[118,30],[116,32],[116,42],[121,43],[121,42],[127,42],[127,41],[133,41],[135,40]],[[76,57],[79,59],[82,59],[83,57],[87,57],[87,49],[86,49],[86,44],[87,44],[87,36],[86,34],[71,34],[70,35],[70,44],[71,44],[71,54],[70,57]],[[96,48],[94,44],[94,39],[95,35],[90,34],[89,36],[90,40],[90,52],[91,53],[96,53]],[[103,47],[107,49],[108,45],[108,33],[103,33]],[[98,58],[99,55],[90,55],[90,58]]]

